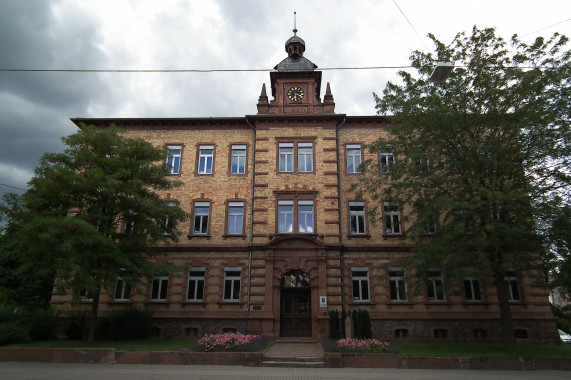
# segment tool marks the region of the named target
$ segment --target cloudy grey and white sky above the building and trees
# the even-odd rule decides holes
[[[474,25],[526,42],[571,36],[569,0],[0,0],[0,69],[271,69],[294,11],[319,68],[406,66],[432,49],[428,33],[448,44]],[[372,115],[372,92],[396,72],[326,70],[322,85],[336,112]],[[71,117],[251,115],[263,83],[268,72],[0,71],[0,194],[22,193],[10,186],[61,151]]]

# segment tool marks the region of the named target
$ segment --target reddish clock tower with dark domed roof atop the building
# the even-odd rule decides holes
[[[288,56],[270,72],[273,100],[269,101],[266,85],[258,100],[258,114],[332,114],[335,103],[329,83],[321,101],[321,71],[317,65],[303,56],[305,41],[293,36],[286,41]]]

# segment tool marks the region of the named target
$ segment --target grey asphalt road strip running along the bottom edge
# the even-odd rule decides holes
[[[566,371],[464,371],[373,368],[267,368],[240,366],[0,363],[2,380],[154,379],[383,379],[383,380],[569,380]]]

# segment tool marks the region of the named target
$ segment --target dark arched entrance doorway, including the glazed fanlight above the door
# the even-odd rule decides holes
[[[286,273],[281,281],[280,336],[311,336],[311,282],[300,270]]]

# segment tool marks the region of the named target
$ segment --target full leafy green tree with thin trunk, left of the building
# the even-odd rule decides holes
[[[188,216],[157,193],[181,185],[167,176],[164,148],[115,127],[82,126],[63,141],[66,149],[44,154],[21,200],[2,211],[20,271],[53,275],[76,300],[93,299],[93,341],[100,291],[118,276],[133,286],[164,272],[149,258],[177,239],[176,225]]]

